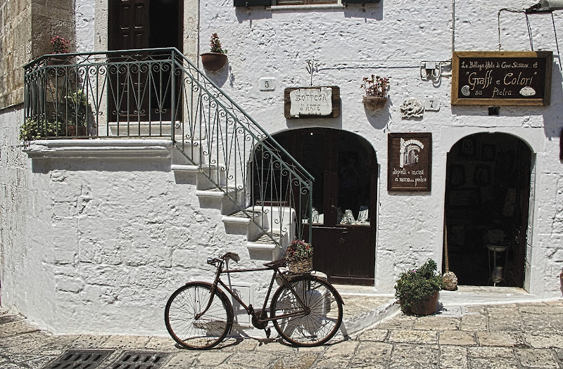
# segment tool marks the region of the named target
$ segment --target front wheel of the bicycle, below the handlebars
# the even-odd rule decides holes
[[[215,290],[209,309],[211,285],[188,283],[177,289],[164,311],[166,329],[172,338],[188,349],[210,349],[222,341],[232,327],[232,306],[227,296]]]

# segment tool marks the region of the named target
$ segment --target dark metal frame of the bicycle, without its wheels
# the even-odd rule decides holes
[[[262,323],[267,323],[269,321],[277,321],[278,319],[289,318],[289,317],[293,317],[293,316],[305,316],[309,313],[309,308],[305,306],[305,302],[303,302],[303,299],[301,299],[299,294],[293,289],[293,287],[291,287],[291,283],[289,283],[289,278],[284,276],[284,273],[279,272],[279,266],[272,266],[271,268],[265,267],[265,268],[251,268],[251,269],[232,269],[232,270],[224,271],[223,270],[224,260],[217,259],[217,262],[219,263],[219,265],[216,266],[217,272],[215,273],[215,280],[213,280],[213,285],[211,287],[211,298],[209,299],[208,305],[205,307],[205,309],[203,311],[201,311],[201,313],[198,313],[198,315],[196,316],[196,319],[203,316],[203,314],[211,306],[211,304],[213,302],[213,296],[215,295],[215,290],[217,290],[218,285],[222,285],[222,287],[224,287],[224,289],[227,290],[227,292],[229,292],[229,294],[231,294],[231,296],[237,302],[239,302],[239,304],[241,304],[241,306],[246,310],[248,315],[252,315],[254,317],[256,323],[254,323],[254,321],[253,321],[253,325],[255,325],[255,326],[260,325]],[[258,314],[256,314],[252,304],[246,305],[242,301],[242,299],[239,296],[237,296],[233,292],[233,290],[231,290],[229,288],[229,286],[227,286],[221,280],[222,274],[245,273],[245,272],[251,272],[251,271],[274,271],[274,273],[272,275],[272,280],[270,280],[270,287],[268,287],[268,291],[267,291],[266,297],[264,299],[264,304],[262,305],[262,310],[260,312],[263,312],[263,311],[266,310],[267,302],[270,299],[270,293],[272,293],[272,287],[274,286],[274,281],[276,280],[277,276],[279,276],[281,278],[283,285],[286,286],[287,288],[289,288],[289,290],[291,290],[291,293],[293,294],[294,297],[296,297],[296,300],[299,303],[299,306],[305,306],[305,308],[302,311],[295,311],[293,313],[282,314],[282,315],[276,316],[275,318],[267,318],[267,317],[262,318],[261,314],[260,314],[260,316],[258,316]]]

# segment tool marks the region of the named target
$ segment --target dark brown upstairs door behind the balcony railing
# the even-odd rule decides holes
[[[110,50],[175,47],[182,51],[182,0],[113,0],[109,15]],[[117,56],[115,61],[146,60],[139,56]],[[161,65],[152,52],[151,64],[132,63],[110,69],[108,116],[110,122],[158,121],[171,118],[170,65]],[[179,84],[177,84],[178,86]]]

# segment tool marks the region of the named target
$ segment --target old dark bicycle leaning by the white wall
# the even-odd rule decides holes
[[[271,321],[279,335],[298,347],[313,347],[324,344],[334,337],[342,323],[343,301],[336,289],[322,278],[308,273],[289,274],[280,271],[285,259],[264,264],[265,268],[223,270],[232,259],[239,261],[234,252],[219,258],[208,258],[207,264],[215,266],[213,283],[190,282],[172,293],[165,307],[166,329],[172,338],[188,349],[210,349],[219,344],[231,332],[234,311],[231,302],[219,286],[252,316],[255,328],[263,329],[270,337]],[[228,267],[228,265],[227,265]],[[246,305],[222,280],[222,274],[272,270],[272,280],[267,290],[262,309],[255,311],[252,304]],[[272,295],[270,316],[267,301],[274,282],[281,285]]]

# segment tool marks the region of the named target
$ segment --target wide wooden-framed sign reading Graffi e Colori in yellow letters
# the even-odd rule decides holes
[[[551,51],[457,51],[452,105],[550,105]]]

